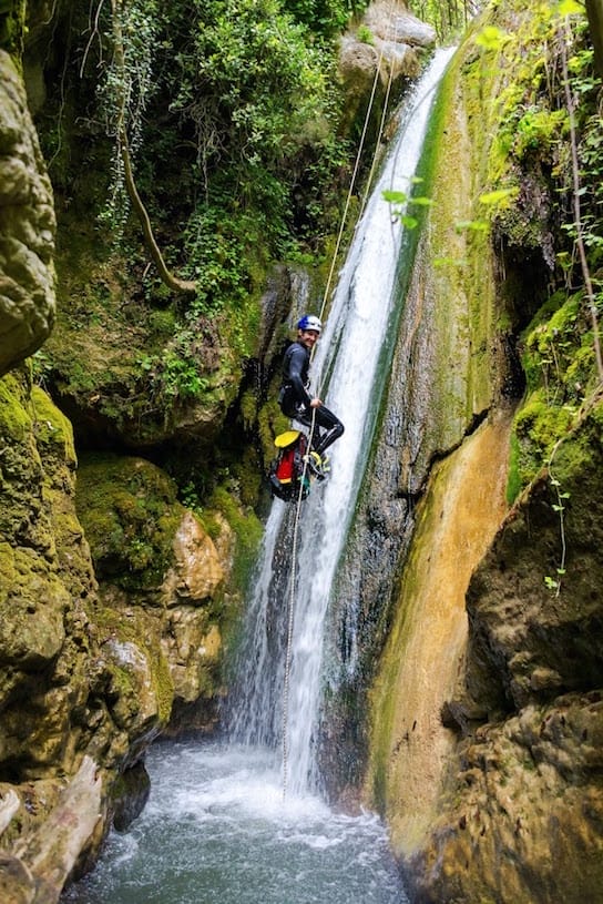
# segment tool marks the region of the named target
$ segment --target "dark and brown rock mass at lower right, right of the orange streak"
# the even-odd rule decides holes
[[[418,902],[601,901],[602,421],[599,403],[553,458],[561,497],[543,474],[472,577],[457,754],[407,864]]]

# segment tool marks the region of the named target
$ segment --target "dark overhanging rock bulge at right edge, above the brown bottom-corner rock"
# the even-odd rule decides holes
[[[511,512],[469,588],[467,688],[486,711],[603,688],[600,419],[595,409],[561,446],[552,474]]]

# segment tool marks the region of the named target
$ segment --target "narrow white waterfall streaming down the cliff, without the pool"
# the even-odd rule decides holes
[[[405,102],[397,136],[356,226],[313,364],[313,387],[320,387],[320,397],[346,431],[329,449],[330,477],[314,484],[302,504],[295,587],[292,590],[289,582],[295,506],[275,500],[249,602],[247,642],[241,657],[244,673],[231,731],[235,740],[273,748],[278,755],[292,601],[286,748],[289,786],[296,793],[319,785],[316,749],[326,613],[372,443],[398,321],[397,274],[405,234],[382,192],[410,194],[435,90],[451,54],[451,50],[435,54]]]

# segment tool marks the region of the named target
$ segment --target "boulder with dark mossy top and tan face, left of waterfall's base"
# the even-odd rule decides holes
[[[176,710],[195,705],[208,728],[221,693],[228,563],[176,497],[174,481],[144,459],[95,455],[82,460],[78,507],[100,581],[98,620],[112,661],[124,681],[149,689],[146,718],[159,715],[165,724],[173,703]],[[218,546],[229,555],[224,519],[218,534]]]

